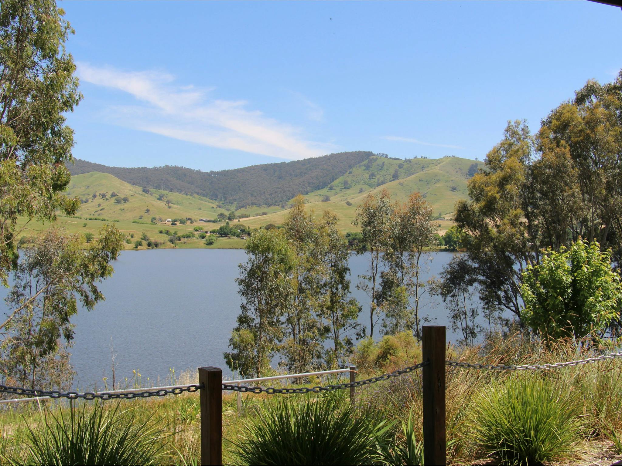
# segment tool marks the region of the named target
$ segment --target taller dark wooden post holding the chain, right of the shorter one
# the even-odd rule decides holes
[[[445,327],[423,327],[423,360],[424,465],[445,465]]]

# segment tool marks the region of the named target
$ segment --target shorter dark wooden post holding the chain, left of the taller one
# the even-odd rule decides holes
[[[201,398],[201,464],[223,464],[223,371],[198,368]]]

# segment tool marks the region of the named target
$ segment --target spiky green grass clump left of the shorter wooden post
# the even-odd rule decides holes
[[[40,427],[28,427],[26,464],[157,464],[162,431],[151,419],[139,422],[130,409],[121,411],[97,403],[87,409],[61,409],[42,413]]]

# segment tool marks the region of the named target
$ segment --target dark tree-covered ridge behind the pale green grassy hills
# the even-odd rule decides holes
[[[367,151],[340,152],[323,157],[221,171],[200,171],[173,165],[155,168],[107,167],[78,158],[68,167],[72,175],[100,171],[131,185],[183,194],[200,194],[243,208],[252,205],[281,205],[296,194],[307,194],[325,188],[373,155],[373,152]]]

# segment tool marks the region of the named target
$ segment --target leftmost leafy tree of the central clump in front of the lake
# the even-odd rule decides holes
[[[296,258],[281,230],[254,231],[246,242],[246,255],[236,278],[241,313],[225,362],[242,377],[261,377],[284,336],[281,318],[292,299],[290,274]]]

